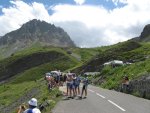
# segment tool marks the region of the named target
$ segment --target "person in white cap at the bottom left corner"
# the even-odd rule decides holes
[[[37,108],[37,99],[32,98],[28,102],[29,108],[23,109],[23,106],[20,106],[18,113],[41,113],[40,110]]]

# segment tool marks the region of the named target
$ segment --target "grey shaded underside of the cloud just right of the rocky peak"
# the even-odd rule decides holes
[[[78,21],[58,22],[55,23],[55,25],[63,27],[80,47],[96,47],[110,44],[110,42],[105,39],[101,28],[88,28],[85,23]]]

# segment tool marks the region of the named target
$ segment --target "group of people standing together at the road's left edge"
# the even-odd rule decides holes
[[[79,97],[82,99],[83,94],[83,98],[87,97],[87,86],[89,81],[86,75],[79,77],[75,73],[61,73],[60,71],[52,71],[50,73],[46,73],[45,79],[47,80],[49,90],[53,87],[65,85],[67,90],[67,98]],[[82,85],[80,83],[82,83]],[[80,92],[81,86],[82,90]]]

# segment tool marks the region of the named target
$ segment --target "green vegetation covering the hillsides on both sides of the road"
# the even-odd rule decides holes
[[[32,60],[35,56],[38,60]],[[122,60],[132,64],[115,68],[103,67],[105,62],[111,60]],[[17,71],[12,71],[15,66],[19,66],[15,68]],[[26,68],[18,71],[22,67]],[[118,89],[123,76],[127,75],[130,80],[134,80],[150,73],[150,43],[127,41],[97,48],[33,46],[18,51],[0,60],[1,79],[13,72],[11,76],[6,77],[6,83],[0,84],[0,109],[10,109],[15,112],[20,104],[26,103],[31,97],[36,97],[39,103],[50,101],[50,106],[44,113],[50,111],[60,99],[56,96],[60,95],[60,92],[57,88],[49,92],[43,77],[46,72],[55,69],[65,72],[72,70],[79,74],[98,71],[100,74],[90,76],[90,81],[103,88]],[[12,107],[12,103],[15,107]]]

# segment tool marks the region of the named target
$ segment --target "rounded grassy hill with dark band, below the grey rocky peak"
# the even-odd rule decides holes
[[[49,70],[52,67],[52,70],[59,69],[63,71],[68,69],[69,66],[76,66],[79,62],[60,48],[27,49],[0,61],[0,80],[5,80],[43,64],[47,64]]]

